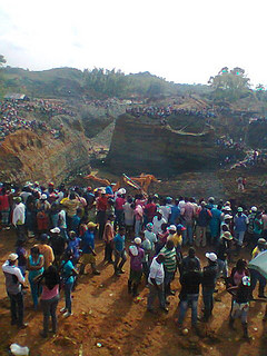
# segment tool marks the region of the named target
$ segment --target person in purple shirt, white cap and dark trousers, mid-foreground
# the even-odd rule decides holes
[[[128,293],[132,294],[132,297],[138,296],[137,288],[142,276],[142,260],[145,258],[145,251],[141,248],[141,243],[140,237],[136,237],[135,245],[129,247],[130,276],[128,279]]]

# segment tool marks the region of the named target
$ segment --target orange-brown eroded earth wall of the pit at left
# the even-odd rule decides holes
[[[73,130],[62,139],[49,132],[18,130],[1,142],[0,165],[0,181],[60,184],[71,171],[89,167],[86,138]]]

